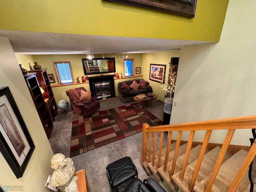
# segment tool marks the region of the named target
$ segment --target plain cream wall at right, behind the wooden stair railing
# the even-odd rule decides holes
[[[219,43],[182,47],[172,124],[256,114],[255,6],[230,1]],[[210,142],[224,133],[213,132]],[[250,145],[249,138],[250,130],[236,130],[231,143]]]

